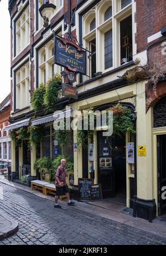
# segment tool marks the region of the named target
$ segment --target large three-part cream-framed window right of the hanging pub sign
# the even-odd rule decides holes
[[[82,43],[90,51],[87,57],[90,77],[132,60],[132,5],[126,14],[120,3],[121,0],[102,0],[82,16]]]

